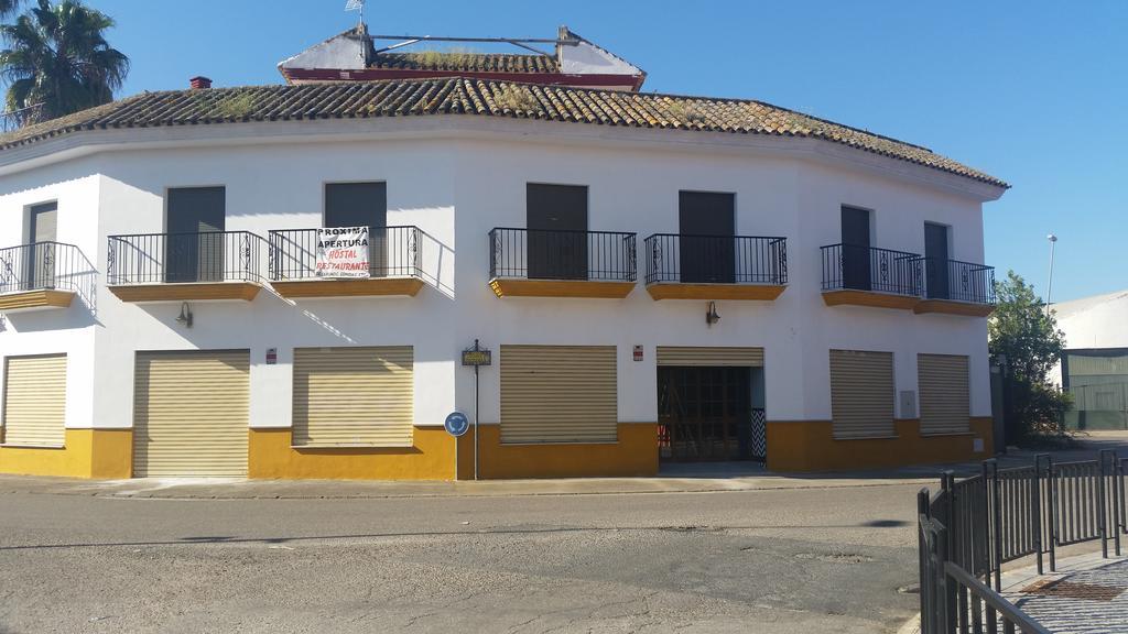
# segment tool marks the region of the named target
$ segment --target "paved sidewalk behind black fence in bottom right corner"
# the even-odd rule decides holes
[[[1004,572],[1003,596],[1055,633],[1128,632],[1128,557],[1092,553],[1058,561],[1057,569]]]

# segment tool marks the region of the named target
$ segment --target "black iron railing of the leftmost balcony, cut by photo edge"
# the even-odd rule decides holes
[[[0,293],[68,290],[89,301],[97,274],[74,245],[35,243],[0,249]]]

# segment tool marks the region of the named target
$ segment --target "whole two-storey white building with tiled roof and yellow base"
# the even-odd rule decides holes
[[[0,138],[0,472],[453,478],[476,404],[482,477],[987,457],[1006,187],[758,102],[138,95]]]

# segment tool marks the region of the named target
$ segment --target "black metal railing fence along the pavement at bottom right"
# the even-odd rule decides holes
[[[1038,572],[1057,569],[1057,548],[1100,540],[1120,554],[1126,518],[1125,459],[1103,450],[1095,460],[1001,469],[987,460],[979,475],[917,494],[920,631],[1048,632],[999,595],[1003,564],[1033,556]],[[992,588],[994,584],[994,588]]]

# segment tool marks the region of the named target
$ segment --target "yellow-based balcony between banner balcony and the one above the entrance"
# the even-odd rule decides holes
[[[490,288],[500,298],[622,299],[636,279],[634,234],[490,231]]]

